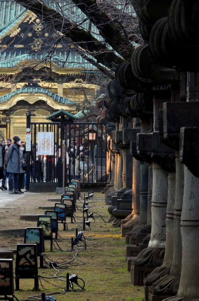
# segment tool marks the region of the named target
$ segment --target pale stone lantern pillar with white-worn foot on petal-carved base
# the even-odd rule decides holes
[[[168,197],[168,172],[160,168],[159,165],[153,163],[153,191],[152,191],[152,226],[149,246],[144,249],[132,263],[131,267],[131,283],[134,284],[135,279],[139,279],[139,285],[143,284],[146,277],[146,268],[148,275],[156,267],[163,264],[165,244],[166,244],[166,205]],[[134,270],[134,267],[136,269]],[[140,273],[134,277],[134,271]],[[136,282],[137,283],[137,282]]]

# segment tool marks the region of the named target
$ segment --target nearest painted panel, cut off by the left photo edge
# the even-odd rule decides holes
[[[0,295],[13,295],[13,260],[0,259]]]

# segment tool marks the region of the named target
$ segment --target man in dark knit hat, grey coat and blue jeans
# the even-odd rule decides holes
[[[6,165],[7,172],[9,173],[8,178],[8,189],[9,194],[21,194],[20,191],[18,191],[18,178],[20,173],[20,165],[21,165],[21,159],[20,159],[20,144],[21,140],[18,136],[14,136],[12,138],[14,140],[14,143],[8,147],[8,151],[6,152]],[[14,180],[14,191],[12,187],[12,182]]]

